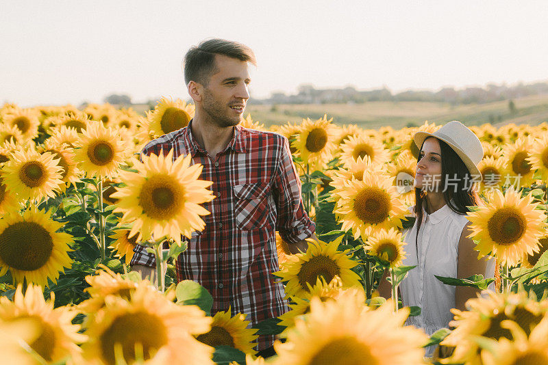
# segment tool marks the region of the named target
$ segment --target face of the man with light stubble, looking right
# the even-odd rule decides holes
[[[249,69],[247,62],[215,55],[217,72],[203,88],[201,107],[219,126],[235,126],[242,118],[249,99]]]

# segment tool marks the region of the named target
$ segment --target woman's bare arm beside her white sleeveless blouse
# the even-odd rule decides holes
[[[485,275],[487,260],[482,258],[477,259],[477,251],[474,250],[474,241],[467,237],[471,234],[468,222],[462,229],[460,234],[460,240],[458,242],[458,265],[457,265],[457,278],[468,278],[474,274]],[[459,310],[466,310],[464,303],[468,299],[477,297],[479,290],[471,288],[469,286],[457,286],[455,290],[455,308]]]

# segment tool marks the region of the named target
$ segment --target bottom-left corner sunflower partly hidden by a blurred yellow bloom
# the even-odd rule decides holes
[[[31,321],[38,328],[38,338],[29,346],[49,364],[61,362],[66,357],[80,352],[77,343],[84,342],[86,336],[79,334],[79,325],[71,321],[78,312],[69,306],[53,309],[53,294],[45,301],[40,286],[29,284],[25,295],[19,284],[13,301],[0,297],[0,320],[5,323]]]

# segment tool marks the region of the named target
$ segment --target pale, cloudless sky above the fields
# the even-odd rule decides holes
[[[188,98],[205,38],[255,51],[251,97],[548,80],[548,1],[1,1],[0,103]]]

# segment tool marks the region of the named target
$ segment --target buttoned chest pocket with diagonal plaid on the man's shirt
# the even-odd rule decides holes
[[[234,218],[241,230],[261,228],[269,217],[270,185],[267,183],[234,185]]]

